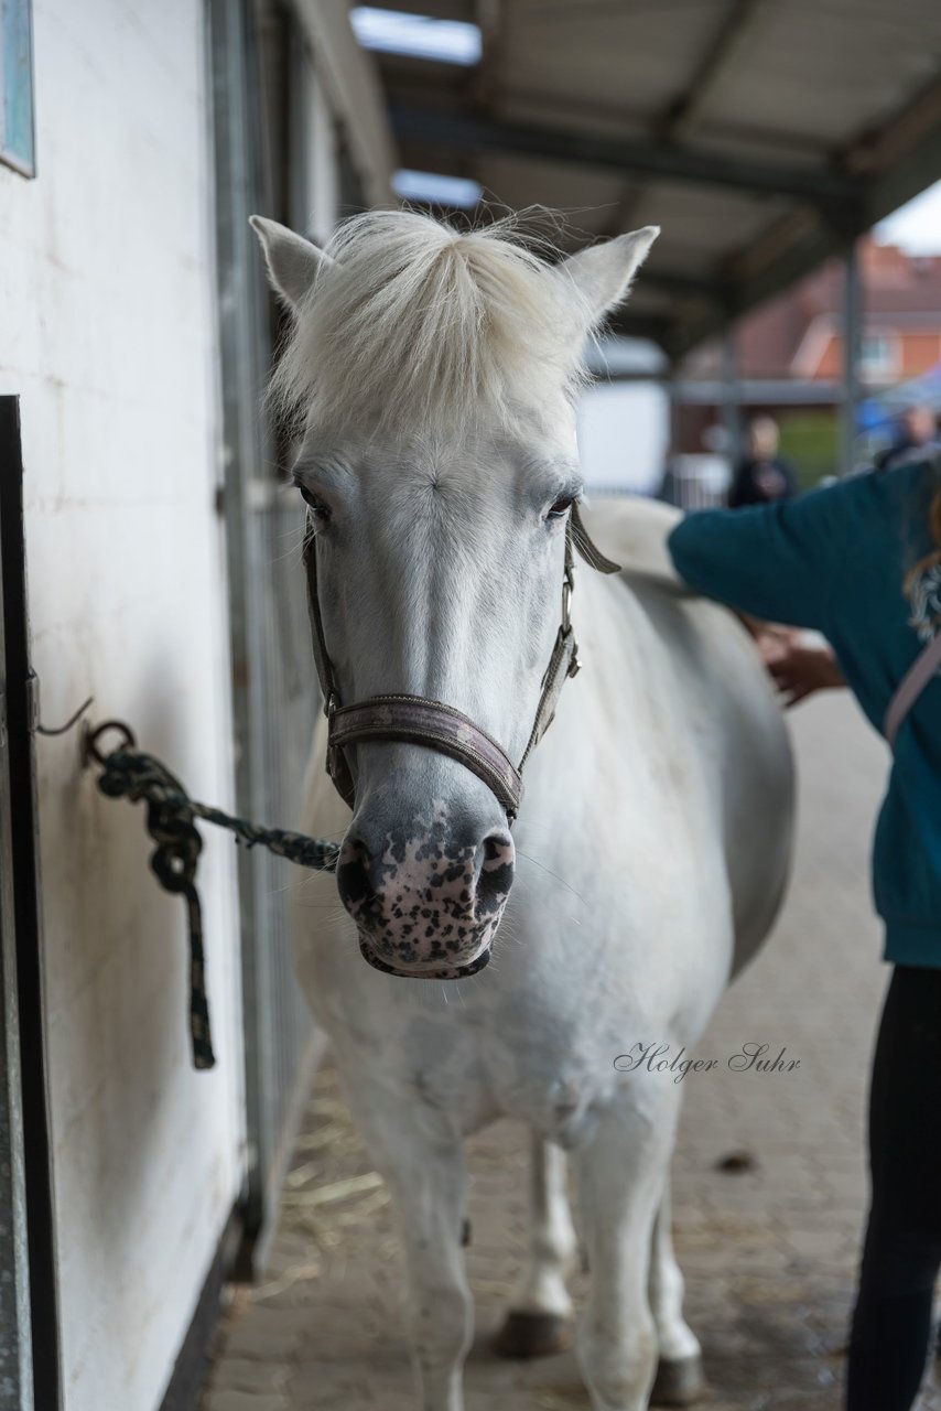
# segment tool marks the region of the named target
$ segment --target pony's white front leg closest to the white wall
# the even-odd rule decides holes
[[[420,1411],[463,1411],[474,1309],[461,1232],[461,1136],[412,1091],[344,1075],[354,1122],[392,1197],[406,1270],[408,1332]]]

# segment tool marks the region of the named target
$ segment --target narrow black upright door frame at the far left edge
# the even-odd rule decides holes
[[[23,450],[0,396],[0,1411],[61,1407]]]

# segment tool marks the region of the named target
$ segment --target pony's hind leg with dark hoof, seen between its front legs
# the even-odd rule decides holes
[[[532,1133],[529,1167],[529,1260],[506,1321],[497,1335],[504,1357],[542,1357],[569,1338],[571,1298],[566,1278],[577,1240],[569,1211],[567,1161],[561,1147]]]

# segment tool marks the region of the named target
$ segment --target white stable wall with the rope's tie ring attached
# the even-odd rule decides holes
[[[38,178],[0,165],[0,392],[21,395],[42,717],[86,696],[231,801],[202,0],[35,0]],[[200,875],[217,1067],[141,807],[38,739],[66,1411],[154,1411],[243,1165],[234,848]]]

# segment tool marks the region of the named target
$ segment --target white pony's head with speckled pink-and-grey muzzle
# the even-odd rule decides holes
[[[519,762],[581,494],[583,349],[657,230],[549,264],[504,226],[409,212],[358,216],[326,250],[253,224],[292,313],[272,395],[300,430],[322,676],[326,658],[343,704],[444,703]],[[337,883],[364,955],[402,975],[480,969],[514,878],[505,803],[460,752],[402,732],[343,755]]]

